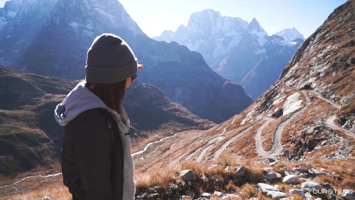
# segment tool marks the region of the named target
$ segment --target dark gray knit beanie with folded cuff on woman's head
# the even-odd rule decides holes
[[[105,33],[92,43],[85,68],[88,83],[116,83],[133,77],[138,71],[138,62],[124,40]]]

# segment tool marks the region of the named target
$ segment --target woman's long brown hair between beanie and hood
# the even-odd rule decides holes
[[[94,83],[85,83],[85,86],[89,89]],[[109,84],[97,84],[95,87],[89,89],[92,93],[98,96],[107,107],[115,110],[118,114],[121,114],[121,101],[125,94],[126,80],[122,80],[117,83]]]

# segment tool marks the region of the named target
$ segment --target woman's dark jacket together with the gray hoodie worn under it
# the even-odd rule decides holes
[[[65,126],[63,181],[73,197],[134,200],[130,122],[124,107],[119,115],[82,81],[56,106],[54,117]]]

